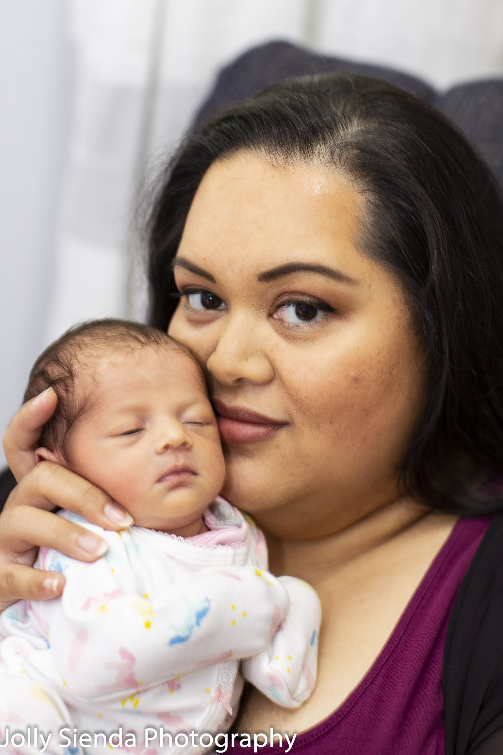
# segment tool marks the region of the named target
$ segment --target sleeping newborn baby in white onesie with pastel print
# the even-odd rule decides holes
[[[104,752],[122,729],[124,750],[195,753],[210,744],[199,735],[231,725],[243,676],[280,705],[301,704],[316,677],[319,601],[265,571],[262,532],[219,498],[222,448],[192,355],[145,325],[90,322],[39,357],[25,400],[47,387],[58,405],[37,460],[99,485],[134,526],[107,532],[60,512],[109,547],[94,563],[41,548],[35,566],[63,572],[63,596],[2,614],[0,744],[6,729],[25,735],[5,751],[37,753],[51,733],[45,752]],[[146,729],[158,732],[147,743]]]

